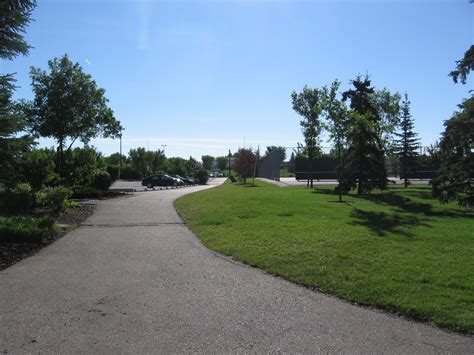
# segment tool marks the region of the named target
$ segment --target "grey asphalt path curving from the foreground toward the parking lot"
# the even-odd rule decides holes
[[[80,228],[0,272],[0,353],[474,351],[472,337],[207,250],[173,208],[205,188],[101,201]]]

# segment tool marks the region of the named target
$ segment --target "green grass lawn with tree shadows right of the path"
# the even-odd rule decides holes
[[[210,249],[354,303],[474,333],[474,212],[425,186],[347,196],[232,185],[176,201]]]

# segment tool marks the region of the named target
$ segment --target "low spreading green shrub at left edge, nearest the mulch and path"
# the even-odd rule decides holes
[[[38,244],[57,233],[51,217],[0,217],[0,242]]]

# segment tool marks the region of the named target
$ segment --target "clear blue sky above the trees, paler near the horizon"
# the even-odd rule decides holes
[[[345,90],[369,74],[378,89],[408,93],[427,146],[473,88],[448,76],[473,43],[473,15],[467,0],[38,0],[34,48],[0,72],[16,72],[15,98],[32,99],[29,68],[67,53],[106,90],[124,152],[198,159],[295,147],[304,138],[292,91],[336,78]]]

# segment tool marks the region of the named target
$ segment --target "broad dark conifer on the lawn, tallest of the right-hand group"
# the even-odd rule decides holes
[[[360,76],[352,81],[354,89],[345,91],[342,100],[350,100],[347,149],[343,159],[343,178],[340,187],[345,191],[357,186],[357,193],[387,186],[382,118],[384,112],[374,99],[375,90],[369,78]]]

